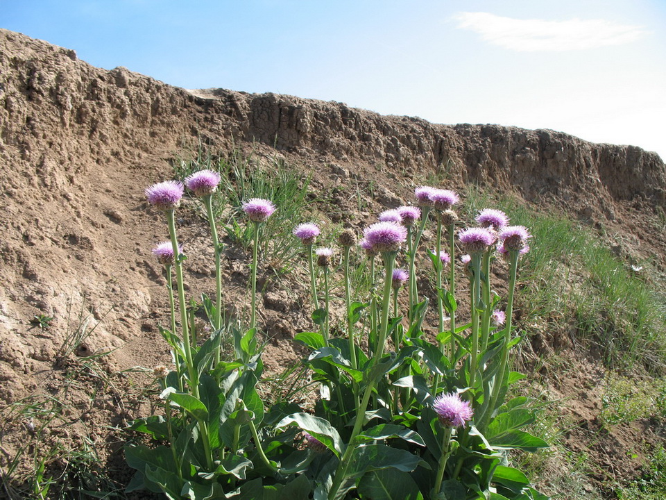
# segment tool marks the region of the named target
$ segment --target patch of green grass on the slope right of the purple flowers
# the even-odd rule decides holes
[[[536,213],[515,199],[490,199],[470,188],[465,219],[499,208],[533,235],[519,279],[528,322],[574,329],[574,342],[601,349],[609,367],[666,366],[665,297],[649,263],[640,274],[610,250],[610,242],[565,215]]]

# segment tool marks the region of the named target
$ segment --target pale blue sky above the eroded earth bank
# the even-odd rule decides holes
[[[0,0],[0,27],[183,88],[552,128],[666,158],[664,0]]]

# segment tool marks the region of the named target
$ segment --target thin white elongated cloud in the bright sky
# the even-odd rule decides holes
[[[458,12],[458,28],[479,33],[484,40],[515,51],[573,51],[621,45],[642,37],[641,26],[605,19],[513,19],[488,12]]]

